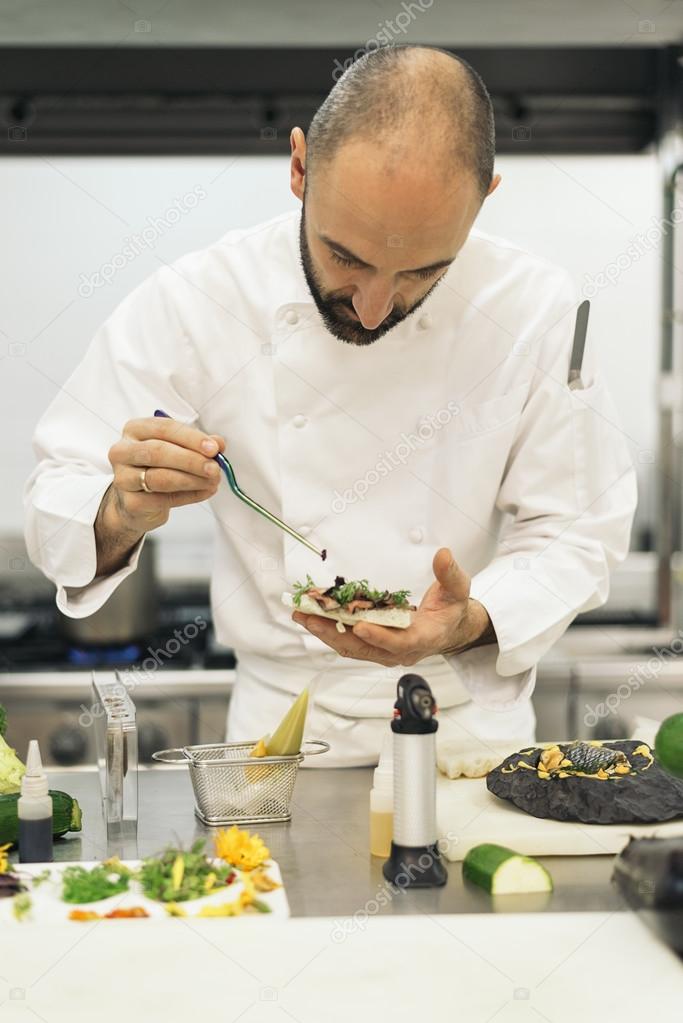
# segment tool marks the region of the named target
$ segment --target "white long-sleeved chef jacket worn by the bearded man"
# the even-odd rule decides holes
[[[414,670],[442,707],[512,709],[575,615],[606,599],[636,504],[595,339],[584,389],[566,385],[574,287],[472,231],[419,310],[356,347],[323,325],[299,227],[297,212],[230,231],[154,273],[98,330],[36,430],[31,559],[77,618],[134,571],[141,544],[94,578],[93,522],[112,479],[108,448],[127,419],[161,407],[223,435],[240,487],[329,551],[321,565],[219,488],[213,615],[245,678],[295,693],[315,676],[327,711],[391,715],[400,669],[338,657],[280,595],[306,573],[323,584],[340,574],[409,588],[417,603],[444,545],[472,577],[498,643]]]

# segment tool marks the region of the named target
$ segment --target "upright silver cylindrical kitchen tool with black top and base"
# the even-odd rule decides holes
[[[437,704],[420,675],[403,675],[394,704],[394,838],[382,873],[398,888],[438,888]]]

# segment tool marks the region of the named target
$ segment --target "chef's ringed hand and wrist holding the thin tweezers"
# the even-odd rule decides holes
[[[171,508],[213,497],[221,470],[213,456],[222,437],[176,419],[131,419],[109,448],[113,482],[97,513],[97,575],[109,575],[144,533],[168,520]],[[146,490],[145,490],[146,487]]]

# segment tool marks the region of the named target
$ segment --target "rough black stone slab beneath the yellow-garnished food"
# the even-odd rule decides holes
[[[566,750],[571,743],[560,743]],[[635,772],[602,781],[593,777],[540,779],[536,770],[520,768],[503,773],[523,760],[538,765],[540,748],[527,756],[514,753],[487,775],[487,788],[494,796],[507,799],[535,817],[550,820],[577,820],[586,825],[653,824],[683,817],[683,779],[673,777],[656,760],[646,767],[647,757],[635,754],[643,746],[636,740],[602,743],[611,750],[622,750]]]

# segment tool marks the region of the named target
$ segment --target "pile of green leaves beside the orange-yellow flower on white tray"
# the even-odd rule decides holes
[[[206,855],[204,845],[203,839],[197,839],[189,850],[170,846],[161,856],[145,859],[140,869],[145,895],[161,902],[186,902],[229,884],[233,869],[215,864]]]

